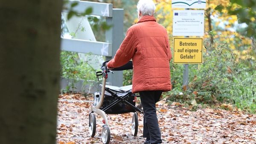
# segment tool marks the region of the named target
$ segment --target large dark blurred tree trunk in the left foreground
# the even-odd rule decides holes
[[[61,8],[0,1],[0,144],[55,144]]]

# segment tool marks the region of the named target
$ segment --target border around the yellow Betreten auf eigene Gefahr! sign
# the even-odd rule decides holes
[[[175,51],[175,39],[183,39],[183,40],[201,40],[200,53],[201,53],[201,62],[175,62],[175,56],[177,56]],[[188,48],[189,49],[189,48]],[[174,64],[201,64],[203,63],[203,38],[174,38],[173,39],[173,61]]]

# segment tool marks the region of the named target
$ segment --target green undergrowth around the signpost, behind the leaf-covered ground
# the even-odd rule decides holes
[[[193,99],[203,104],[230,103],[256,113],[255,60],[248,57],[236,61],[236,55],[225,42],[203,57],[203,64],[189,65],[189,89],[186,91],[182,88],[183,65],[172,65],[173,90],[165,93],[169,100],[187,104]]]

